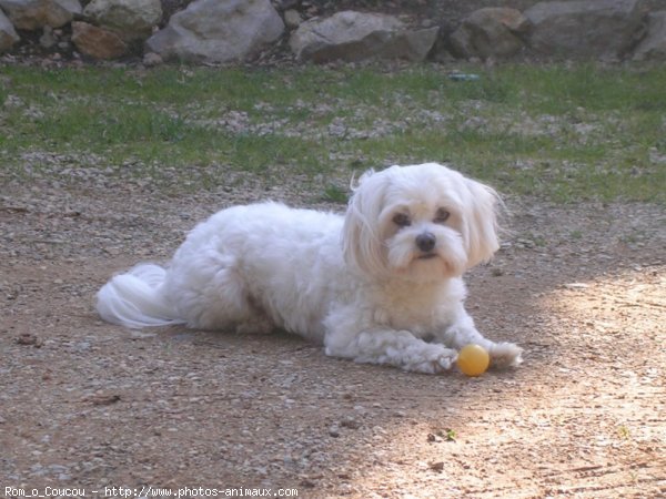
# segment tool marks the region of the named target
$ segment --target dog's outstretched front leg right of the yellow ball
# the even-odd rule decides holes
[[[460,350],[465,345],[476,344],[485,348],[494,367],[517,366],[523,361],[523,349],[513,343],[495,343],[485,338],[474,326],[474,320],[461,306],[453,323],[443,324],[435,332],[435,342]]]

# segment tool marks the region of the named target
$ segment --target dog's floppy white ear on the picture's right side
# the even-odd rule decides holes
[[[491,259],[500,248],[497,240],[497,193],[480,182],[465,179],[467,198],[463,202],[463,240],[467,268]]]

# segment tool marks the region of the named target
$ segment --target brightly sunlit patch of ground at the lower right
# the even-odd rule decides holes
[[[666,266],[571,282],[536,309],[518,370],[438,380],[422,420],[373,429],[353,497],[664,493]]]

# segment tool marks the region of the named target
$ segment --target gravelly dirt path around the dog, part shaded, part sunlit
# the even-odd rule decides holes
[[[666,495],[663,207],[508,200],[512,232],[470,274],[468,308],[525,363],[477,379],[330,359],[287,335],[132,333],[97,318],[112,273],[167,258],[195,221],[266,195],[240,192],[2,187],[0,497],[47,486]]]

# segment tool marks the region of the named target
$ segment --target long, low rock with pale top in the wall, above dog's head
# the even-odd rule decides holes
[[[303,22],[289,43],[299,59],[313,62],[370,58],[421,61],[437,33],[438,28],[408,30],[393,16],[347,10]]]

